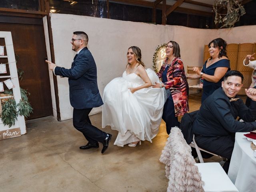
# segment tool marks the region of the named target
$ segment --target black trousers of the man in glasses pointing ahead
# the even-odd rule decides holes
[[[73,125],[74,127],[82,132],[86,140],[90,144],[97,145],[98,142],[103,142],[107,137],[107,134],[102,130],[92,125],[89,113],[92,108],[88,109],[75,109],[73,110]]]

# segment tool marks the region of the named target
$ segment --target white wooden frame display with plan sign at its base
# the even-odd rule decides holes
[[[12,34],[11,32],[0,31],[0,38],[4,38],[5,47],[6,47],[6,55],[2,54],[3,52],[2,50],[0,55],[0,60],[2,58],[7,58],[9,70],[10,70],[9,76],[0,76],[0,78],[5,78],[5,79],[10,78],[12,83],[14,84],[14,88],[12,88],[13,96],[0,97],[0,100],[4,98],[14,97],[16,104],[18,104],[20,102],[21,95],[20,95],[20,84],[18,80],[14,48],[12,43]],[[12,125],[11,127],[9,127],[8,125],[4,125],[2,120],[0,119],[0,140],[21,136],[22,134],[26,134],[26,124],[25,124],[24,116],[18,115],[17,120],[15,121],[15,124]]]

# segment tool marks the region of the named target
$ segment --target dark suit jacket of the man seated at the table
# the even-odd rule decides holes
[[[236,120],[240,117],[244,122]],[[222,88],[204,100],[192,125],[195,135],[225,136],[256,129],[256,101],[247,108],[242,99],[229,101]]]

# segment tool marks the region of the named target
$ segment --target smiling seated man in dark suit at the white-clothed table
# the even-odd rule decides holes
[[[226,172],[234,148],[235,133],[256,129],[256,89],[245,89],[246,95],[252,99],[249,108],[236,96],[242,88],[243,79],[239,71],[228,71],[222,88],[204,100],[192,125],[199,147],[228,159],[223,166]],[[244,122],[236,120],[238,116]]]

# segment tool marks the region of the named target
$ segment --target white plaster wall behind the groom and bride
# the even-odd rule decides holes
[[[126,52],[130,46],[142,50],[142,60],[152,68],[155,49],[169,40],[178,42],[185,67],[202,66],[204,45],[221,37],[228,43],[255,42],[256,26],[232,29],[195,29],[182,26],[162,26],[139,22],[94,18],[69,14],[52,14],[52,33],[55,61],[58,66],[70,68],[75,52],[71,49],[74,31],[84,31],[89,36],[88,49],[97,65],[98,87],[102,95],[110,80],[121,76],[127,63]],[[68,79],[57,77],[61,120],[72,118],[69,102]],[[91,114],[101,111],[94,108]]]

